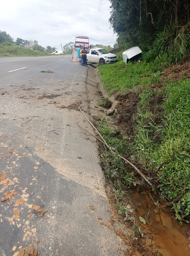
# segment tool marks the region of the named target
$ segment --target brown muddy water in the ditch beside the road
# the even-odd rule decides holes
[[[147,193],[132,193],[139,216],[145,221],[143,230],[150,234],[163,256],[190,255],[190,225],[179,225],[167,203],[157,206]]]

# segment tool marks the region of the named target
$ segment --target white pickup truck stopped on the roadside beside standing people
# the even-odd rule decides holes
[[[90,52],[87,54],[88,63],[99,63],[99,65],[103,65],[105,63],[113,63],[116,61],[117,57],[115,54],[101,48],[90,49]]]

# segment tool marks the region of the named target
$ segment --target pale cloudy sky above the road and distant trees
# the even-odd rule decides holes
[[[0,30],[14,40],[37,40],[61,50],[75,36],[90,38],[90,44],[113,46],[117,35],[110,28],[108,0],[0,0]]]

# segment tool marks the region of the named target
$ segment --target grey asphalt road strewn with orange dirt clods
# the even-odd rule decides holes
[[[0,255],[123,255],[88,116],[89,68],[0,58]]]

